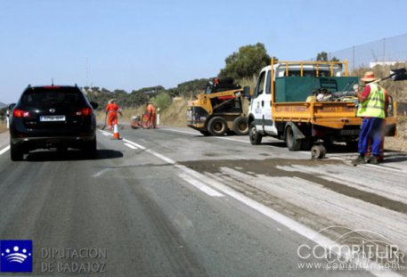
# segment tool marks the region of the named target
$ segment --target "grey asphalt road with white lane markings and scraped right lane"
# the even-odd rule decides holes
[[[298,252],[345,243],[343,230],[407,252],[403,153],[352,167],[340,146],[315,161],[272,140],[255,147],[186,128],[120,134],[99,131],[94,160],[35,151],[22,162],[0,135],[0,240],[32,240],[36,276],[390,273],[333,270]]]

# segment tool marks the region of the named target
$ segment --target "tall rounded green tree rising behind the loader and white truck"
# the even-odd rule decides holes
[[[253,77],[260,69],[270,64],[270,56],[265,45],[246,45],[239,48],[239,52],[232,53],[224,61],[226,65],[219,72],[219,77],[244,78]]]

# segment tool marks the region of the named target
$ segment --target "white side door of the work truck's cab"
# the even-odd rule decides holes
[[[264,70],[257,79],[253,109],[256,129],[266,134],[277,134],[272,120],[271,70]]]

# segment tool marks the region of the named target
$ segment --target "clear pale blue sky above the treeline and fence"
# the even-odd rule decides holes
[[[406,33],[404,0],[0,0],[0,102],[32,86],[131,92],[215,77],[243,45],[284,61]]]

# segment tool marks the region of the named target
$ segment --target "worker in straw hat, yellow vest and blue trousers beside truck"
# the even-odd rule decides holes
[[[365,156],[370,144],[370,164],[377,165],[383,141],[388,99],[385,89],[374,83],[377,78],[372,71],[366,72],[361,80],[366,86],[362,93],[357,93],[359,107],[356,116],[363,118],[359,134],[359,157],[352,163],[356,166],[367,162]]]

